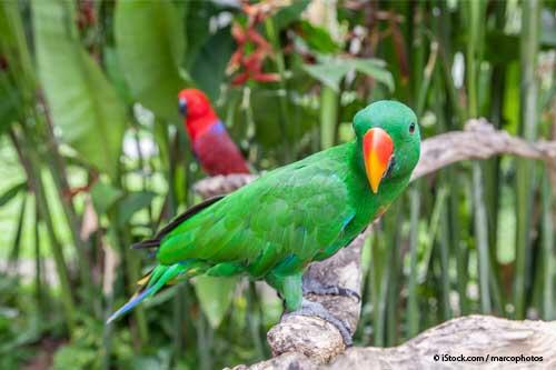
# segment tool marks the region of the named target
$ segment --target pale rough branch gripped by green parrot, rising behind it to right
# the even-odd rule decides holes
[[[487,159],[497,154],[515,154],[545,160],[547,163],[554,164],[556,162],[556,142],[527,142],[509,136],[506,131],[495,130],[484,119],[469,120],[464,131],[448,132],[423,141],[420,160],[411,180],[433,173],[455,162],[469,159]],[[254,174],[214,177],[199,181],[195,189],[202,197],[208,198],[230,192],[256,178],[257,176]],[[367,228],[351,244],[340,250],[332,258],[312,263],[306,276],[310,274],[324,284],[337,284],[360,292],[359,257],[361,246],[370,228]],[[334,296],[317,297],[311,294],[307,298],[320,302],[339,319],[348,322],[351,333],[355,332],[361,309],[360,302],[356,302],[351,298]],[[316,363],[326,363],[345,351],[338,330],[319,318],[301,316],[284,318],[281,322],[270,329],[267,338],[274,356],[295,352],[297,357],[310,358]],[[353,352],[353,350],[355,349],[350,349],[349,352]],[[380,350],[375,349],[375,351]],[[297,359],[296,356],[284,358]],[[391,359],[390,361],[395,360]],[[269,363],[272,363],[272,361],[275,360]],[[286,362],[282,364],[285,366]],[[255,369],[266,369],[266,367],[255,367]],[[269,366],[269,369],[272,369],[272,367]]]

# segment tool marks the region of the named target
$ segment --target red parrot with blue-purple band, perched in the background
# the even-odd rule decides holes
[[[185,89],[178,94],[193,153],[205,172],[210,176],[249,173],[249,167],[231,141],[207,96],[197,89]]]

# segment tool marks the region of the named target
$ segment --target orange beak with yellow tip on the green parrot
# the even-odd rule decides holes
[[[394,142],[385,130],[374,128],[365,133],[363,138],[365,171],[374,193],[378,192],[378,187],[388,170],[393,152]]]

